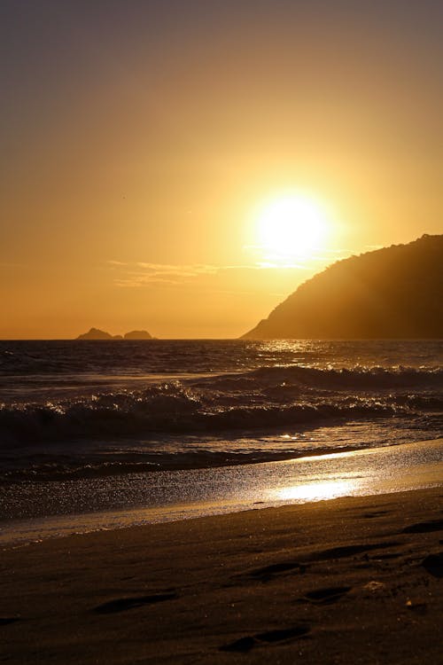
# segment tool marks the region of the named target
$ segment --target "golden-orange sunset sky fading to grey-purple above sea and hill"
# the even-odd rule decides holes
[[[237,337],[331,262],[443,232],[442,24],[440,0],[2,0],[0,338]]]

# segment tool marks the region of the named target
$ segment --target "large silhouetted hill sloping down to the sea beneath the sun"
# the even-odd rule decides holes
[[[308,279],[243,339],[443,337],[443,235],[351,256]]]

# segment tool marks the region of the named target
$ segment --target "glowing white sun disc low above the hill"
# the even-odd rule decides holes
[[[323,205],[299,194],[268,201],[257,216],[260,249],[269,259],[280,262],[307,258],[322,245],[327,231]]]

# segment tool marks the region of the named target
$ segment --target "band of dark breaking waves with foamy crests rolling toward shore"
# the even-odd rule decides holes
[[[260,369],[44,405],[3,405],[0,441],[3,448],[11,443],[30,445],[88,437],[115,440],[149,438],[156,433],[212,434],[395,416],[415,410],[439,411],[443,410],[443,395],[430,389],[438,383],[440,371]],[[415,390],[392,390],[400,386]],[[370,392],[376,387],[375,394]],[[385,392],[380,392],[381,388]]]

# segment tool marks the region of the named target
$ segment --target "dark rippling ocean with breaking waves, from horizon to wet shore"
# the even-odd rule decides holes
[[[443,340],[0,341],[3,525],[442,431]]]

